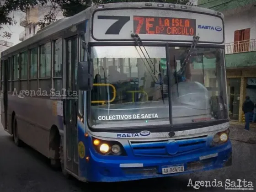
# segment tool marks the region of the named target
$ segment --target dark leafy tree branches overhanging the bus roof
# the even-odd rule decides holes
[[[192,5],[190,0],[5,0],[0,1],[0,36],[11,38],[10,32],[2,32],[5,25],[14,25],[16,21],[10,16],[12,11],[26,12],[27,8],[36,5],[45,5],[51,3],[52,9],[49,11],[42,21],[38,22],[39,27],[43,28],[56,21],[54,10],[61,9],[64,16],[73,16],[91,5],[117,3],[117,2],[166,2],[182,5]]]

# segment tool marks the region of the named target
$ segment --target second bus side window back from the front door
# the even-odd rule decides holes
[[[51,77],[51,42],[40,46],[40,78]]]

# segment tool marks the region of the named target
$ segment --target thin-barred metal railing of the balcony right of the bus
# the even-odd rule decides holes
[[[225,54],[256,51],[256,39],[226,43]]]

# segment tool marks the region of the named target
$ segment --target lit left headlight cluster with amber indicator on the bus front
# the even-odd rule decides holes
[[[127,155],[123,145],[118,141],[107,141],[92,137],[92,145],[102,155]]]

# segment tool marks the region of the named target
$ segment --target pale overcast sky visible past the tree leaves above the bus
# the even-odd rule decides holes
[[[194,5],[197,5],[197,0],[191,0],[191,2],[194,3]],[[12,36],[11,39],[0,37],[0,40],[5,40],[14,43],[13,45],[16,45],[18,43],[21,43],[21,41],[19,41],[19,35],[21,32],[24,31],[24,27],[20,26],[20,19],[25,16],[25,13],[21,11],[16,11],[12,12],[10,15],[17,21],[17,24],[13,26],[4,26],[2,31],[11,32]]]

